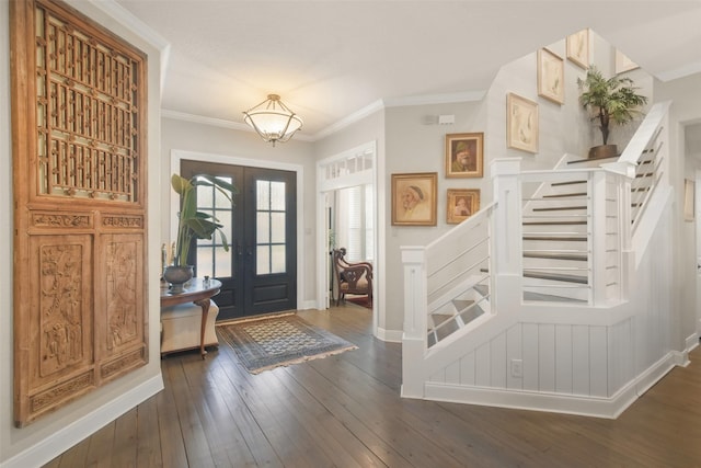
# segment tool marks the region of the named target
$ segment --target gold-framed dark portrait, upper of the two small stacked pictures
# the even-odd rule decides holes
[[[484,134],[446,135],[446,178],[481,178]]]

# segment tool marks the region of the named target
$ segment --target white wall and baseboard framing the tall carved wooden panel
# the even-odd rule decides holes
[[[124,37],[148,54],[148,267],[159,266],[159,191],[160,158],[160,52],[154,43],[139,32],[125,26],[97,7],[84,1],[69,4]],[[12,259],[12,152],[10,140],[10,72],[9,72],[9,2],[0,2],[0,255]],[[12,263],[0,264],[0,466],[39,466],[80,442],[102,425],[158,392],[163,387],[160,374],[158,327],[149,330],[148,365],[124,376],[41,418],[24,429],[13,424],[13,338],[12,338]],[[159,323],[159,283],[149,284],[149,322]]]

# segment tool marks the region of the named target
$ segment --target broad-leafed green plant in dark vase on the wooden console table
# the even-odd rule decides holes
[[[214,216],[197,210],[196,187],[214,186],[229,201],[238,191],[232,184],[211,175],[195,175],[192,179],[185,179],[173,174],[171,186],[180,195],[180,213],[177,214],[177,238],[173,264],[165,267],[163,278],[171,283],[171,292],[177,294],[182,293],[183,284],[193,276],[193,266],[187,264],[193,239],[211,239],[216,232],[221,238],[223,250],[229,251],[227,236],[221,230],[223,225],[219,224],[219,220]]]

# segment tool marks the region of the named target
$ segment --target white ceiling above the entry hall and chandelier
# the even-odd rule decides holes
[[[502,65],[584,27],[662,80],[701,71],[701,1],[116,0],[170,43],[162,107],[241,123],[278,93],[327,133],[380,100],[484,92]]]

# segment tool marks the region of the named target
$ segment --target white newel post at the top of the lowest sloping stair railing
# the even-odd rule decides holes
[[[518,158],[495,159],[490,169],[494,201],[497,203],[491,225],[492,282],[497,294],[497,313],[520,304],[524,271],[524,227]]]

